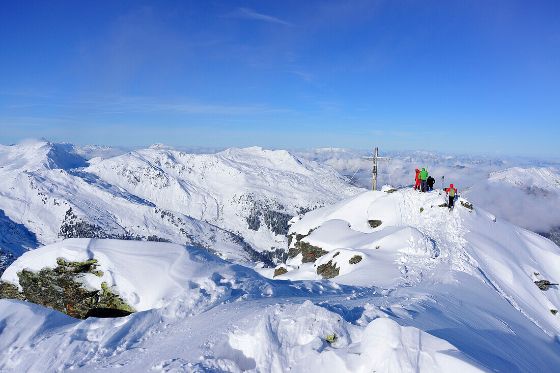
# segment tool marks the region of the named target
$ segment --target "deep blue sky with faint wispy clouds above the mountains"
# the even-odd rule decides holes
[[[560,2],[0,2],[0,143],[560,155]]]

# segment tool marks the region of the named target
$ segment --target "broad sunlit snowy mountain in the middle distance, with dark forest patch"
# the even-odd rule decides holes
[[[144,149],[84,171],[162,209],[240,232],[261,250],[283,248],[287,221],[301,209],[359,191],[330,167],[257,147],[217,154]]]

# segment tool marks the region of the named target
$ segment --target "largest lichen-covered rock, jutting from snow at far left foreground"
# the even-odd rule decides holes
[[[2,282],[0,298],[20,299],[63,312],[77,319],[122,317],[136,312],[103,282],[101,289],[87,289],[80,281],[86,273],[102,276],[96,259],[69,262],[57,258],[57,267],[39,272],[17,273],[22,291],[14,284]]]

